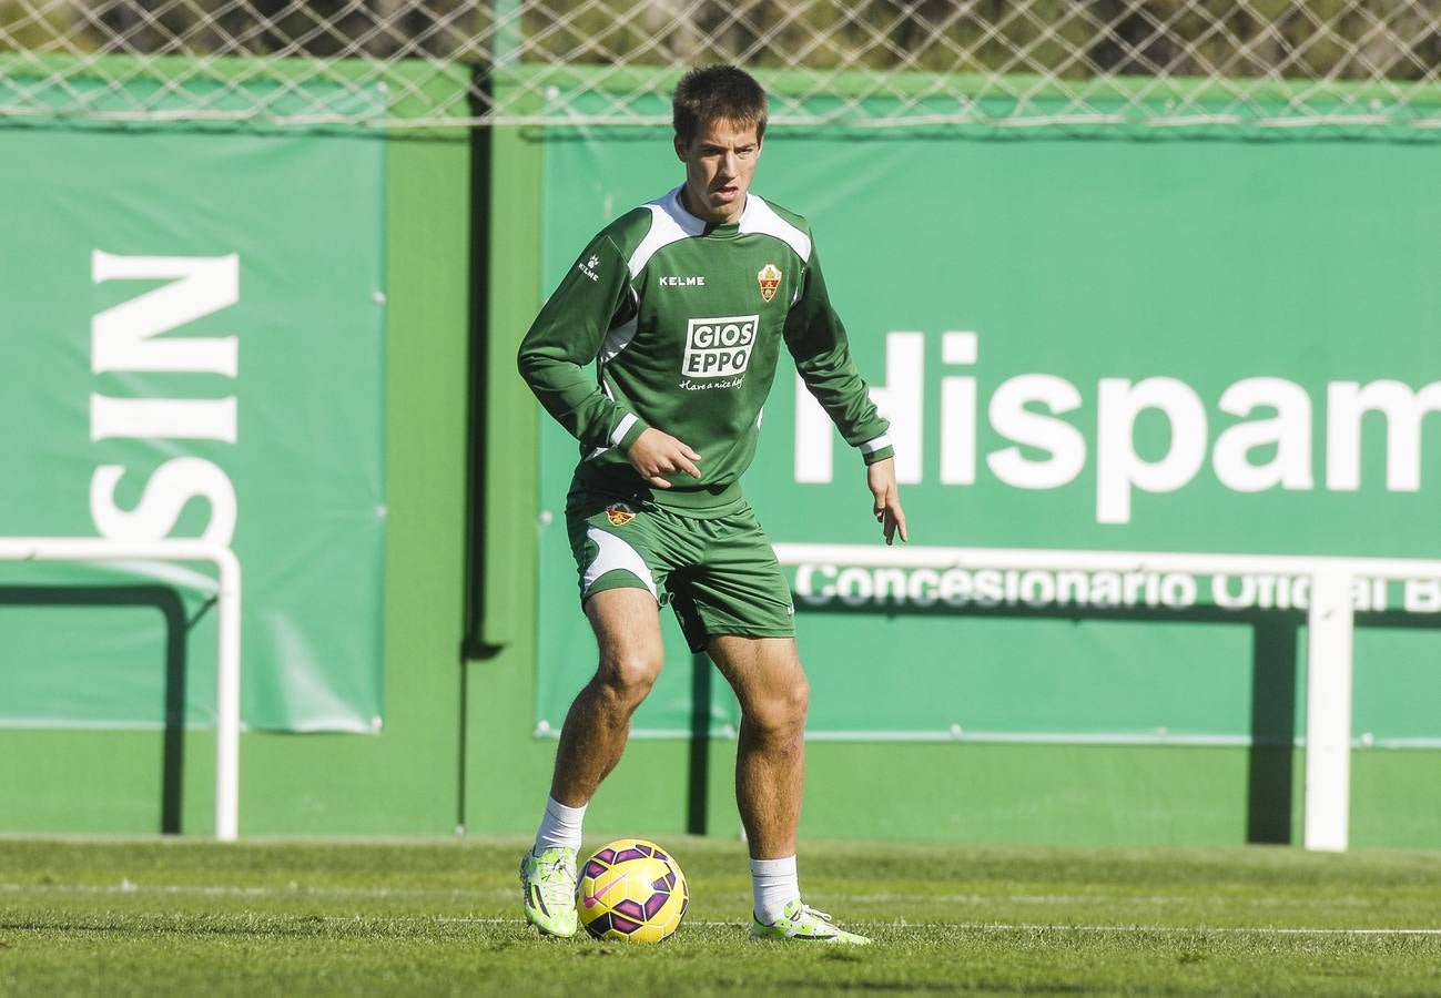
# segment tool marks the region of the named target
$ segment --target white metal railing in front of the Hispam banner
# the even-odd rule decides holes
[[[1277,575],[1311,582],[1307,609],[1306,830],[1308,850],[1344,851],[1350,831],[1352,580],[1437,579],[1441,560],[1293,554],[1177,554],[1001,547],[775,544],[781,565],[1049,572]]]

